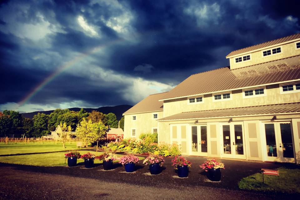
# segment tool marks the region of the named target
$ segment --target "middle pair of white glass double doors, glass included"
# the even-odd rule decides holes
[[[222,123],[220,130],[222,157],[246,159],[243,124]]]

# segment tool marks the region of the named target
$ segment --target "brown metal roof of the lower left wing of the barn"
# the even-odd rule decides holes
[[[165,92],[167,93],[167,92]],[[139,103],[135,104],[128,111],[123,113],[123,115],[133,114],[133,113],[147,113],[152,111],[162,111],[163,110],[163,102],[158,101],[163,97],[165,93],[152,94],[148,97],[144,98]]]

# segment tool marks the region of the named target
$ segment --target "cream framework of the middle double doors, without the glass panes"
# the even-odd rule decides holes
[[[223,125],[229,125],[230,129],[230,147],[231,154],[224,153],[224,140],[223,140]],[[235,133],[234,125],[242,125],[242,137],[243,137],[243,154],[236,154],[236,144],[235,144]],[[234,145],[233,145],[234,143]],[[245,131],[244,131],[244,122],[224,122],[220,123],[220,152],[221,158],[236,158],[236,159],[246,159],[246,141],[245,141]]]

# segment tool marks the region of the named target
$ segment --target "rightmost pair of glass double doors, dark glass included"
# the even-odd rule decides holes
[[[265,123],[267,161],[295,162],[291,124]]]

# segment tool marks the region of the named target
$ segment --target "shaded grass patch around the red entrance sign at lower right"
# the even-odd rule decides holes
[[[279,176],[264,175],[264,182],[262,174],[256,173],[243,178],[238,186],[246,190],[300,193],[300,169],[279,168]]]

